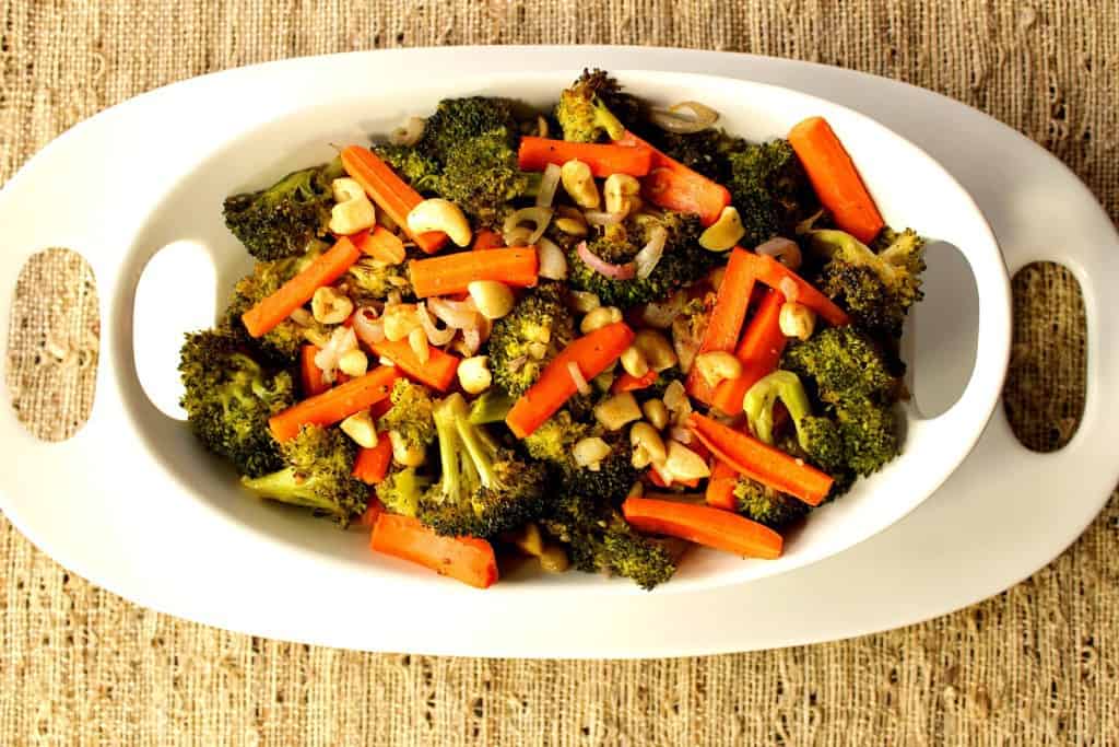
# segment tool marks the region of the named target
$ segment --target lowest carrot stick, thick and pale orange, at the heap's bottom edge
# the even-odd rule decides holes
[[[476,536],[442,536],[412,516],[380,514],[369,547],[479,589],[497,581],[497,557],[489,542]]]

